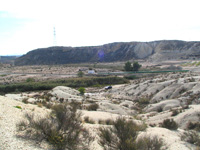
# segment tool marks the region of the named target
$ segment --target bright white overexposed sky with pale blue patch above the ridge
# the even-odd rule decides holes
[[[199,41],[199,6],[200,0],[0,0],[0,55],[51,46]]]

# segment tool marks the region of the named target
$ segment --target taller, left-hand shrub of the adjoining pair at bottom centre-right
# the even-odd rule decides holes
[[[99,128],[99,144],[105,150],[135,150],[138,132],[144,129],[125,118],[118,118],[113,127]]]

